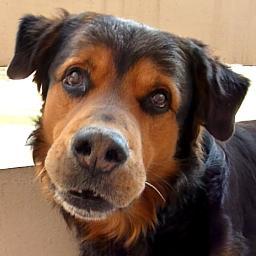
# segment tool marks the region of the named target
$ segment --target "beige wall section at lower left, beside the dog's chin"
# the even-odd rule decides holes
[[[77,256],[74,237],[34,182],[33,168],[0,170],[0,255]]]

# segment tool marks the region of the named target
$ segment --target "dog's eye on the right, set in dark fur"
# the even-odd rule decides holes
[[[165,89],[157,89],[140,100],[140,104],[150,114],[161,114],[170,108],[170,94]]]

